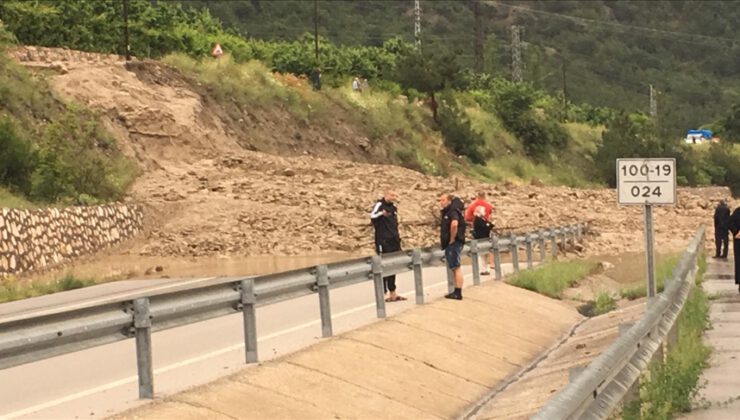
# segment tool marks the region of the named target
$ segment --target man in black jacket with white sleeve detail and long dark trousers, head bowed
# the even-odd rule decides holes
[[[370,212],[370,220],[375,228],[375,252],[383,255],[401,250],[401,235],[398,233],[398,209],[396,208],[397,195],[387,191],[383,198],[378,200]],[[388,293],[386,302],[406,300],[396,294],[396,276],[383,277],[383,286]]]

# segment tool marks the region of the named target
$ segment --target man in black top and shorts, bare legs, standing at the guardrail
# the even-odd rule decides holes
[[[439,197],[439,207],[442,209],[442,224],[440,226],[440,246],[445,250],[447,267],[455,276],[455,291],[445,295],[447,299],[462,300],[463,276],[460,267],[460,258],[465,245],[465,217],[463,203],[451,194],[442,194]]]

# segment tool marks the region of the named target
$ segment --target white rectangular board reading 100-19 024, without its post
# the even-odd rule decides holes
[[[617,159],[619,204],[676,204],[676,159]]]

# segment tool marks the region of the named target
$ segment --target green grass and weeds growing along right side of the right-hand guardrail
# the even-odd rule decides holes
[[[700,260],[700,272],[701,267]],[[701,276],[697,275],[697,283],[700,282]],[[709,327],[709,299],[701,287],[691,290],[677,322],[678,345],[668,354],[665,364],[651,367],[650,379],[642,382],[639,398],[624,409],[623,419],[667,420],[691,410],[711,352],[702,341],[702,334]]]

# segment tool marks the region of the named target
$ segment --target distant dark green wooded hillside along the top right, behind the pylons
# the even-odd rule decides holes
[[[184,3],[250,38],[285,41],[314,31],[313,2]],[[413,1],[317,6],[319,34],[336,44],[414,39]],[[508,76],[511,25],[519,25],[525,80],[551,93],[565,89],[574,103],[643,112],[652,84],[662,124],[678,138],[740,100],[739,19],[740,10],[723,1],[422,1],[421,41],[426,52],[454,51],[463,67]]]

